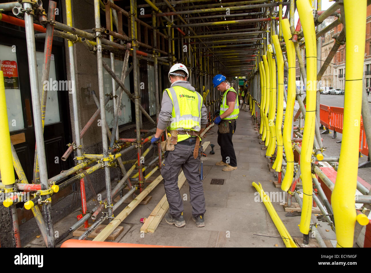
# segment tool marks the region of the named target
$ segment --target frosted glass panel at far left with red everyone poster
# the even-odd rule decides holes
[[[0,45],[0,69],[4,73],[9,131],[24,129],[16,47]]]

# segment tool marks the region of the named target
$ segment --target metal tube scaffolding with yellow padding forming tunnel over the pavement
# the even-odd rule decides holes
[[[114,213],[115,210],[129,196],[132,196],[134,199],[132,205],[134,207],[131,206],[130,209],[125,208],[127,210],[125,211],[124,209],[121,212],[130,213],[139,204],[137,202],[138,198],[142,199],[148,195],[159,182],[158,180],[153,181],[147,188],[144,188],[146,179],[156,170],[161,169],[163,152],[161,151],[160,143],[158,143],[157,157],[146,165],[143,165],[141,158],[147,156],[150,150],[153,149],[151,145],[147,149],[144,149],[144,146],[154,136],[154,131],[144,130],[142,125],[143,121],[145,121],[144,119],[154,127],[157,125],[158,115],[160,113],[161,88],[164,85],[161,81],[161,71],[165,70],[163,68],[168,69],[169,66],[181,62],[189,69],[191,84],[195,86],[197,92],[203,95],[204,104],[207,107],[209,124],[213,123],[215,118],[214,113],[219,109],[218,104],[220,100],[220,94],[213,90],[213,76],[216,74],[225,75],[227,80],[234,84],[234,87],[237,87],[237,89],[237,77],[246,76],[249,83],[247,98],[250,105],[250,112],[254,118],[256,130],[259,131],[259,137],[262,139],[261,144],[265,144],[266,146],[266,156],[272,159],[273,168],[278,172],[279,183],[283,179],[282,189],[289,193],[287,200],[288,206],[291,205],[292,196],[294,196],[296,201],[303,207],[302,218],[306,215],[306,219],[303,219],[301,223],[303,241],[308,242],[309,232],[313,232],[316,233],[316,240],[318,240],[320,246],[325,246],[321,235],[316,230],[315,224],[311,223],[310,217],[308,219],[308,214],[310,215],[311,213],[312,196],[313,201],[319,205],[322,214],[326,215],[325,219],[334,231],[335,222],[338,221],[336,213],[339,212],[336,209],[334,210],[329,204],[317,176],[321,177],[325,183],[327,182],[330,188],[334,189],[336,186],[334,187],[333,183],[329,181],[317,165],[321,161],[341,162],[342,156],[338,159],[327,157],[324,154],[324,147],[319,133],[319,90],[316,89],[316,84],[313,84],[314,87],[312,85],[312,89],[307,89],[307,98],[302,100],[302,90],[298,90],[295,87],[295,56],[298,59],[301,77],[303,79],[310,79],[313,82],[316,82],[316,79],[321,79],[322,74],[329,65],[329,61],[331,61],[339,45],[344,42],[345,31],[343,30],[336,38],[337,42],[328,56],[329,61],[326,60],[323,64],[314,59],[317,58],[316,56],[318,54],[321,54],[321,39],[317,39],[316,41],[316,38],[319,38],[323,33],[328,31],[330,26],[335,26],[335,24],[331,24],[321,29],[321,23],[330,15],[339,17],[337,23],[341,22],[345,25],[344,14],[348,12],[345,9],[347,7],[347,0],[344,0],[344,2],[342,0],[336,1],[326,11],[321,11],[320,0],[317,0],[317,6],[312,7],[308,0],[298,0],[296,2],[299,16],[303,20],[301,24],[300,21],[298,22],[295,29],[294,13],[296,7],[293,0],[226,1],[223,5],[208,0],[144,0],[141,1],[141,4],[137,4],[136,0],[130,0],[129,6],[125,6],[127,3],[124,3],[124,1],[94,0],[95,25],[89,31],[73,27],[71,0],[65,0],[66,24],[57,22],[55,16],[53,16],[56,7],[55,1],[49,1],[49,10],[47,12],[43,9],[42,1],[19,0],[18,2],[0,4],[0,10],[3,11],[0,13],[1,21],[24,26],[26,29],[29,74],[32,79],[33,119],[36,135],[36,153],[32,183],[30,183],[31,181],[27,181],[20,160],[10,140],[9,142],[1,143],[1,145],[8,145],[11,148],[9,153],[13,157],[13,162],[8,162],[8,165],[12,164],[14,166],[19,178],[17,181],[14,177],[10,177],[7,181],[2,179],[3,185],[1,185],[1,190],[6,193],[12,192],[15,197],[32,192],[34,198],[27,201],[24,207],[32,210],[48,247],[55,247],[56,244],[61,243],[81,225],[84,225],[87,229],[79,237],[80,240],[83,240],[103,221],[117,221]],[[359,5],[366,5],[365,0],[360,2],[362,3]],[[283,13],[283,7],[286,7],[285,14]],[[365,10],[366,6],[363,8]],[[312,9],[315,12],[314,16],[311,17],[310,14],[313,15]],[[144,10],[145,12],[142,13],[139,10]],[[17,17],[4,13],[10,11]],[[351,11],[349,8],[349,14],[351,14]],[[349,17],[352,17],[352,15]],[[346,19],[348,20],[349,17]],[[34,23],[35,21],[39,23]],[[126,27],[127,29],[125,29]],[[301,28],[303,32],[301,32]],[[124,30],[127,30],[127,33]],[[35,34],[36,31],[41,33]],[[59,175],[48,178],[43,138],[47,88],[43,86],[42,99],[40,100],[36,68],[35,37],[45,38],[42,69],[42,82],[44,82],[45,79],[49,78],[53,36],[68,40],[70,80],[73,82],[71,92],[73,114],[71,120],[74,124],[75,134],[73,136],[74,142],[70,144],[62,159],[66,160],[74,152],[76,165]],[[310,45],[309,42],[311,42]],[[362,42],[364,44],[364,40]],[[75,81],[75,43],[82,43],[89,52],[96,55],[98,68],[98,96],[95,95],[94,91],[91,91],[97,110],[82,130],[80,130],[78,118],[78,90]],[[307,50],[307,69],[305,69],[300,49],[303,43],[306,44]],[[311,52],[308,50],[311,50]],[[103,52],[109,54],[110,64],[104,62],[102,58]],[[115,56],[122,56],[124,58],[121,78],[115,74]],[[132,65],[130,67],[129,56],[132,57]],[[315,61],[313,62],[309,58],[313,58]],[[141,59],[153,62],[154,64],[155,119],[147,113],[141,103],[138,79],[138,61]],[[283,85],[284,67],[288,71],[289,87],[287,91]],[[103,69],[112,77],[113,88],[111,94],[108,95],[104,94]],[[124,81],[131,72],[133,74],[134,88],[133,90],[128,90],[124,85]],[[292,85],[292,81],[294,85]],[[116,88],[116,85],[118,88]],[[119,105],[124,92],[135,105],[136,138],[133,139],[119,137]],[[283,117],[283,98],[288,105],[285,117]],[[301,121],[300,126],[296,128],[292,126],[293,101],[295,99],[300,106],[295,117],[300,118]],[[113,100],[114,105],[114,124],[112,131],[108,127],[105,116],[105,105],[109,100]],[[355,105],[348,107],[355,107]],[[6,114],[6,108],[1,109],[1,111],[5,111]],[[366,109],[364,110],[364,107],[362,107],[362,116],[364,117],[364,121],[367,120],[367,117],[369,121],[371,120],[369,118],[371,117],[370,113]],[[102,153],[88,154],[83,152],[81,139],[98,117],[100,117],[103,123],[101,126]],[[305,124],[312,125],[310,129],[310,126],[307,125],[303,133],[304,119]],[[290,132],[292,129],[298,138],[291,138]],[[371,127],[368,123],[365,123],[367,136],[371,135],[370,130]],[[143,137],[142,134],[145,134],[145,136]],[[162,140],[164,140],[163,136]],[[369,138],[367,138],[367,141],[369,141]],[[293,145],[294,143],[299,143],[299,145]],[[123,161],[122,156],[134,150],[137,158]],[[293,161],[293,150],[296,150],[301,155],[301,163],[299,165]],[[351,149],[349,148],[349,150]],[[130,169],[126,170],[124,165],[127,163],[134,164]],[[346,165],[347,163],[343,164]],[[111,188],[110,169],[112,168],[119,169],[123,176],[114,189]],[[85,178],[99,169],[104,169],[106,199],[101,204],[96,205],[96,207],[88,208],[86,205]],[[150,172],[144,176],[143,172],[145,169],[150,170]],[[131,176],[134,172],[137,173]],[[294,173],[296,173],[295,177]],[[1,172],[1,175],[4,177],[3,172]],[[73,176],[68,178],[71,175]],[[304,199],[305,202],[301,201],[296,191],[296,185],[301,175],[303,178],[303,191],[305,196],[308,196],[308,198]],[[75,182],[80,183],[83,217],[55,240],[50,196]],[[113,204],[112,198],[126,187],[129,191],[116,204]],[[139,189],[138,196],[136,195],[137,189]],[[359,189],[361,189],[360,186]],[[313,190],[315,190],[315,194],[313,194]],[[365,192],[364,189],[362,191]],[[321,204],[321,201],[324,205]],[[44,217],[40,212],[39,204],[42,204],[44,207]],[[310,208],[308,208],[308,204]],[[13,200],[11,198],[7,199],[4,205],[10,207],[12,210],[13,239],[15,245],[20,247],[19,227]],[[360,211],[358,215],[365,216],[370,211],[370,205],[365,202],[364,206],[358,211]],[[353,212],[351,214],[354,216],[355,209]],[[102,214],[102,216],[97,218],[98,214]],[[357,216],[357,220],[361,217]],[[91,227],[88,227],[89,218],[95,220]],[[338,216],[338,218],[340,217]],[[349,220],[349,222],[354,220],[353,223],[355,224],[355,217],[350,218],[352,220]],[[122,221],[123,218],[121,217],[119,219],[119,221]],[[356,224],[354,231],[355,238],[359,235],[359,232],[360,225]],[[338,233],[336,234],[338,235]],[[105,238],[100,237],[99,240],[105,240]]]

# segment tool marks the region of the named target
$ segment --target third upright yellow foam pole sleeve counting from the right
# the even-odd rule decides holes
[[[287,160],[286,173],[282,180],[281,189],[288,191],[292,180],[294,178],[294,153],[291,144],[291,129],[292,118],[294,115],[294,104],[296,95],[295,83],[295,47],[291,39],[290,22],[289,19],[282,20],[282,33],[286,43],[286,53],[288,62],[288,78],[287,78],[287,101],[285,111],[285,121],[283,121],[283,146],[285,147],[285,154]]]

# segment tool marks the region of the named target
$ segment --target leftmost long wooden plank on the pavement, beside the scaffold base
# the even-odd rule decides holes
[[[101,241],[103,242],[121,224],[122,221],[132,212],[135,207],[147,196],[155,186],[158,185],[162,181],[162,176],[159,175],[157,178],[147,186],[129,205],[127,205],[115,218],[112,220],[102,231],[98,234],[97,237],[93,239],[93,241]]]

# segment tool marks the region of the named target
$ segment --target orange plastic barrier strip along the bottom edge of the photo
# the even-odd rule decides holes
[[[65,241],[60,247],[170,247],[170,246],[155,246],[150,244],[127,244],[70,239]]]

